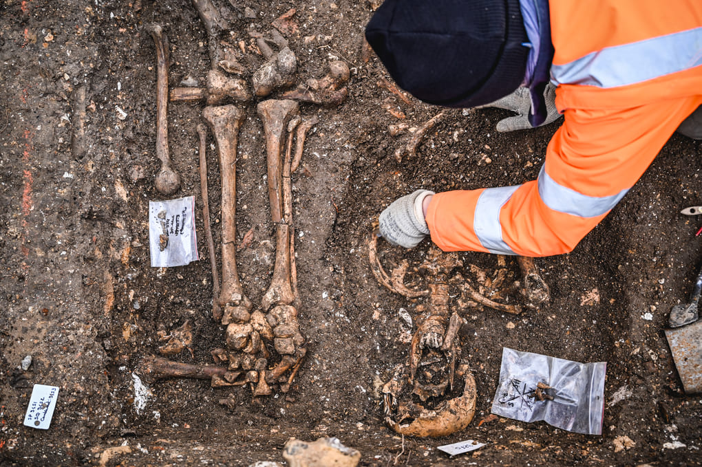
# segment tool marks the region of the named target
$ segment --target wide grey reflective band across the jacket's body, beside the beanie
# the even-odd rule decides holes
[[[555,84],[614,88],[702,65],[702,27],[607,47],[565,65],[552,65]]]

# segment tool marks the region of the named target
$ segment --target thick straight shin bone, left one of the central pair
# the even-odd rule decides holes
[[[237,273],[237,142],[245,113],[234,105],[205,107],[202,116],[215,136],[222,180],[222,288],[217,298],[224,307],[223,324],[249,320],[251,301]]]

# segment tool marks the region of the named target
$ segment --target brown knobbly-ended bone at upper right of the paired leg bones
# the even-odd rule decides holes
[[[347,88],[342,87],[349,80],[349,67],[341,60],[329,64],[329,71],[320,79],[308,79],[305,85],[284,93],[284,99],[300,102],[334,106],[338,105],[348,95]]]

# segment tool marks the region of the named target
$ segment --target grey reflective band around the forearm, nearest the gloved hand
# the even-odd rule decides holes
[[[475,217],[473,217],[473,230],[480,244],[491,253],[515,255],[515,252],[502,239],[500,210],[520,186],[486,188],[478,198]]]

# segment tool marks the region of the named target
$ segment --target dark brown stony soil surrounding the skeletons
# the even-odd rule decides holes
[[[260,398],[246,386],[211,388],[194,379],[144,381],[146,395],[135,392],[139,363],[162,344],[159,331],[190,320],[192,348],[171,356],[184,363],[214,364],[211,351],[225,346],[225,327],[211,316],[201,217],[196,126],[203,102],[168,104],[171,157],[183,177],[173,198],[196,198],[201,259],[151,268],[148,243],[148,202],[164,196],[153,184],[159,168],[156,65],[145,27],[164,27],[172,86],[204,83],[208,35],[187,1],[6,0],[0,6],[2,465],[248,466],[283,462],[289,438],[325,436],[358,449],[362,466],[702,463],[702,397],[682,392],[663,335],[670,308],[687,301],[701,266],[695,233],[702,219],[679,214],[702,203],[699,142],[673,135],[574,252],[538,259],[552,294],[547,306],[512,316],[452,304],[465,320],[460,339],[477,381],[475,419],[445,438],[401,438],[383,421],[379,389],[406,363],[416,307],[425,299],[393,294],[373,277],[366,246],[371,222],[392,200],[418,188],[533,179],[558,123],[499,134],[495,125],[507,111],[450,111],[418,155],[398,163],[393,154],[408,134],[392,137],[388,126],[404,121],[416,127],[438,109],[408,104],[378,86],[388,78],[385,70],[376,57],[364,60],[369,2],[218,5],[232,25],[218,41],[233,45],[246,79],[265,61],[249,33],[269,34],[272,21],[290,8],[297,29],[284,35],[298,59],[296,83],[322,76],[331,60],[344,60],[351,70],[343,104],[300,107],[303,119],[319,117],[292,177],[299,320],[307,348],[300,370],[288,393]],[[273,269],[274,226],[256,101],[237,105],[246,109],[237,159],[237,238],[253,235],[237,252],[237,264],[245,294],[258,304]],[[208,182],[219,245],[223,213],[213,144]],[[379,248],[388,267],[401,259],[417,265],[430,242],[410,252],[384,243]],[[461,259],[496,268],[491,255]],[[518,276],[512,259],[508,268]],[[607,362],[602,436],[486,419],[503,347]],[[32,364],[23,371],[25,356]],[[60,387],[46,431],[22,425],[34,384]],[[220,403],[227,398],[228,405]],[[623,437],[631,442],[618,449]],[[467,439],[487,445],[452,459],[437,451]]]

